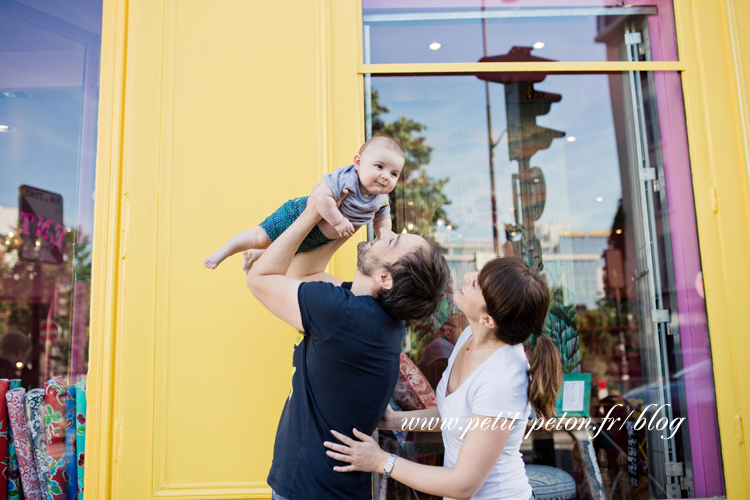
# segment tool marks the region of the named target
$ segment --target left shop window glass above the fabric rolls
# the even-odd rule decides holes
[[[0,6],[0,378],[88,370],[101,0]]]

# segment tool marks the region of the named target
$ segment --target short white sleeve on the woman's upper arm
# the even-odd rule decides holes
[[[526,370],[502,363],[482,373],[469,394],[471,413],[488,417],[521,419],[528,404]]]

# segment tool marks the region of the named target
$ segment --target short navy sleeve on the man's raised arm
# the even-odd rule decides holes
[[[320,342],[336,335],[350,298],[351,292],[330,283],[302,283],[297,289],[297,300],[304,334]]]

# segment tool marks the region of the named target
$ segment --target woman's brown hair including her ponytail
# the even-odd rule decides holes
[[[547,283],[517,257],[489,261],[479,272],[478,283],[498,339],[516,345],[536,335],[529,360],[529,402],[538,417],[553,418],[562,365],[555,343],[542,331],[549,308]]]

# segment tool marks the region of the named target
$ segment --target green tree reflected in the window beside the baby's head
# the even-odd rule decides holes
[[[388,112],[388,108],[380,104],[378,92],[373,89],[372,133],[396,139],[406,156],[398,186],[390,195],[394,231],[400,232],[406,228],[434,243],[438,221],[450,224],[444,207],[451,200],[443,193],[449,178],[433,179],[423,167],[430,163],[433,150],[425,144],[425,138],[418,135],[425,131],[425,126],[404,117],[399,117],[393,123],[384,123],[380,116]]]

